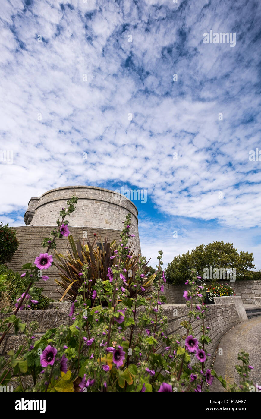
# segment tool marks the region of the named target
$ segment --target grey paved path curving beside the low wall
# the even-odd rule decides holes
[[[222,375],[227,384],[239,383],[240,377],[235,365],[242,365],[239,361],[238,352],[243,349],[249,353],[249,364],[254,367],[249,378],[254,385],[261,385],[261,316],[252,318],[238,324],[229,330],[221,339],[218,349],[222,349],[223,354],[219,355],[217,350],[214,362],[214,370],[217,375]],[[214,378],[209,391],[226,391],[221,383]]]

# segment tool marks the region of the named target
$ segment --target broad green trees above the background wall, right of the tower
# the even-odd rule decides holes
[[[165,277],[169,284],[184,284],[189,279],[189,272],[194,269],[196,274],[204,279],[207,279],[206,268],[223,268],[235,269],[236,279],[259,279],[261,273],[252,272],[255,265],[253,262],[253,253],[242,252],[238,253],[238,249],[233,246],[233,243],[224,243],[223,241],[216,241],[204,245],[202,243],[196,246],[191,252],[183,253],[175,256],[167,268],[165,269]],[[255,278],[254,278],[254,275]],[[228,279],[228,274],[225,278]]]

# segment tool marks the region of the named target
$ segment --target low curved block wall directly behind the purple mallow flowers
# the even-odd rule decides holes
[[[61,307],[63,303],[60,303]],[[140,307],[139,310],[145,310],[144,307]],[[186,305],[164,305],[163,306],[163,315],[168,318],[168,331],[167,335],[171,336],[177,334],[181,337],[186,334],[186,329],[180,326],[181,321],[187,319],[189,309]],[[54,328],[60,324],[72,324],[73,320],[69,317],[70,307],[67,305],[67,308],[52,309],[52,310],[28,310],[21,311],[18,313],[18,316],[21,318],[23,323],[29,324],[31,321],[35,320],[39,322],[39,329],[37,333],[34,333],[36,338],[40,338],[48,328]],[[3,316],[3,315],[2,315]],[[207,317],[205,320],[205,325],[209,326],[209,337],[212,339],[212,342],[207,346],[207,353],[210,353],[211,356],[207,357],[207,366],[211,365],[214,351],[219,343],[220,338],[223,334],[240,323],[237,310],[235,305],[230,304],[215,304],[209,305],[209,311],[207,312]],[[200,326],[202,322],[200,320],[191,321],[191,326],[194,331],[194,335],[199,338],[200,336]],[[126,337],[128,338],[127,334]],[[0,353],[6,353],[10,349],[15,351],[22,344],[24,339],[23,334],[9,334],[8,339],[5,339],[5,345],[1,347]],[[163,349],[164,350],[164,349]]]

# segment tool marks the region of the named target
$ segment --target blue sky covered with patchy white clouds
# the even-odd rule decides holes
[[[146,189],[153,266],[223,240],[261,269],[259,2],[9,0],[0,21],[0,220],[59,186]]]

